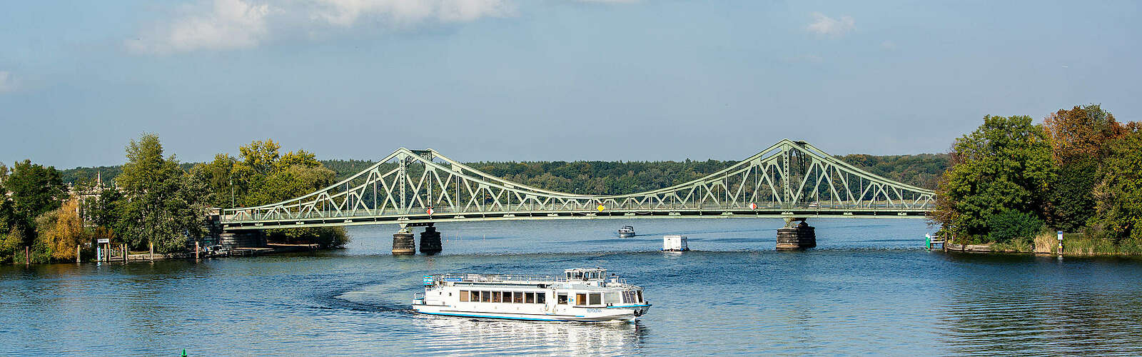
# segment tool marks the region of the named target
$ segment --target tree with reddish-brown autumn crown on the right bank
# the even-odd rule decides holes
[[[1059,110],[1047,116],[1043,126],[1059,168],[1051,182],[1047,222],[1060,230],[1076,231],[1094,216],[1091,192],[1101,181],[1108,144],[1126,132],[1113,114],[1096,104]]]

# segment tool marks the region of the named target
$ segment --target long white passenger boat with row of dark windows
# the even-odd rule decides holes
[[[564,276],[445,273],[425,276],[412,298],[420,314],[539,322],[634,320],[650,309],[640,286],[606,269]]]

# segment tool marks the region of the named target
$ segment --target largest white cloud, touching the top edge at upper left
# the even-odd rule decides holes
[[[291,31],[379,23],[392,29],[472,22],[514,13],[509,0],[200,0],[169,25],[126,41],[140,54],[227,50],[257,47]],[[212,1],[212,3],[209,3]]]

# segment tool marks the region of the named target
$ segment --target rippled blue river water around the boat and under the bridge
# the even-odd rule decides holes
[[[346,249],[199,263],[0,267],[0,355],[1142,355],[1142,261],[924,251],[918,220],[440,224],[444,254],[392,256],[394,228]],[[619,239],[632,224],[640,237]],[[695,252],[660,253],[661,235]],[[600,265],[654,304],[634,324],[415,315],[425,273]]]

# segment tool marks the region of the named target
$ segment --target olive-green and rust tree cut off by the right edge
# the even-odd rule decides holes
[[[1142,128],[1132,122],[1129,133],[1108,146],[1102,182],[1094,189],[1096,223],[1109,238],[1142,241]]]

